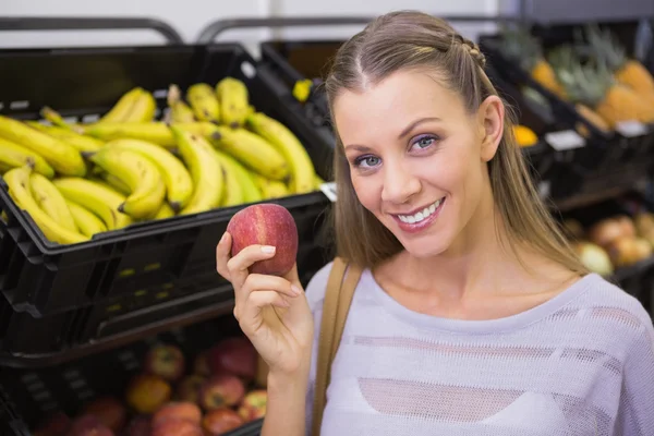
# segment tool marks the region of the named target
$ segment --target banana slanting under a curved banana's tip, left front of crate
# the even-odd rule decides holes
[[[106,184],[82,178],[66,177],[55,179],[55,186],[65,199],[93,211],[107,226],[107,230],[122,229],[133,219],[118,210],[125,196]]]

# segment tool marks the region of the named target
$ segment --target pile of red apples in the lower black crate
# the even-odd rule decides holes
[[[191,362],[170,343],[153,346],[122,398],[100,395],[72,416],[58,412],[34,436],[219,436],[266,413],[257,354],[244,337],[223,339]]]

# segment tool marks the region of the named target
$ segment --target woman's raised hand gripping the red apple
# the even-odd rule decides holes
[[[216,247],[216,269],[235,294],[234,317],[270,373],[293,375],[311,360],[314,323],[298,278],[296,265],[284,277],[250,274],[275,247],[250,245],[230,258],[232,240],[225,233]]]

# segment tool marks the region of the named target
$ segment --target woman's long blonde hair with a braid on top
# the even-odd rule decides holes
[[[498,96],[484,72],[485,57],[444,20],[413,11],[377,17],[338,50],[325,89],[337,138],[334,172],[338,202],[332,209],[337,255],[374,268],[403,250],[395,235],[365,209],[350,180],[350,166],[334,121],[334,100],[342,90],[358,90],[404,69],[429,69],[441,84],[456,90],[474,113],[488,96]],[[507,106],[505,104],[505,106]],[[513,116],[507,106],[505,129],[488,164],[496,207],[509,243],[525,242],[542,255],[574,272],[585,274],[556,221],[533,185],[528,165],[513,136]]]

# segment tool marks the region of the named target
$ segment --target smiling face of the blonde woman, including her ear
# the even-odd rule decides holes
[[[465,250],[472,217],[493,209],[486,164],[501,138],[498,101],[471,116],[457,94],[417,71],[336,99],[359,201],[412,255]]]

